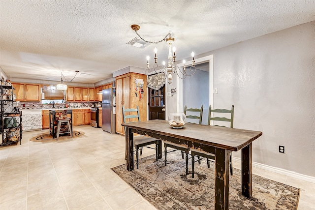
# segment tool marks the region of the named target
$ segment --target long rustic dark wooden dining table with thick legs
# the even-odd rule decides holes
[[[186,123],[184,128],[174,129],[166,120],[129,122],[122,125],[126,127],[128,171],[134,169],[133,133],[210,152],[215,155],[215,210],[228,210],[229,156],[232,151],[242,150],[242,195],[248,198],[252,196],[252,142],[262,132],[194,123]]]

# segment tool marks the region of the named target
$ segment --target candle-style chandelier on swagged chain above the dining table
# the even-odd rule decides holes
[[[172,79],[173,79],[173,76],[172,74],[177,74],[177,76],[180,78],[180,79],[185,79],[186,77],[188,76],[192,76],[196,73],[196,67],[195,67],[195,60],[194,60],[194,53],[192,52],[191,53],[191,57],[192,57],[192,64],[191,66],[189,67],[189,70],[187,71],[186,70],[186,61],[183,60],[183,68],[181,69],[179,66],[176,65],[176,56],[175,56],[175,51],[176,51],[176,48],[173,47],[172,49],[172,43],[174,42],[175,38],[172,38],[171,37],[171,32],[169,32],[168,34],[166,34],[166,36],[160,40],[160,41],[157,41],[157,42],[151,42],[151,41],[147,41],[147,40],[144,40],[137,32],[137,30],[140,29],[140,26],[138,25],[131,25],[131,29],[135,31],[135,33],[137,34],[137,36],[144,42],[147,42],[147,43],[153,43],[153,44],[158,44],[162,41],[166,41],[167,44],[168,44],[168,61],[167,63],[165,63],[165,61],[162,62],[162,66],[159,67],[158,66],[158,57],[157,57],[157,52],[158,52],[158,49],[155,48],[154,49],[154,53],[155,53],[155,64],[153,65],[153,70],[150,68],[150,63],[149,63],[149,59],[150,57],[147,56],[147,69],[146,69],[146,74],[149,75],[151,72],[156,72],[157,74],[164,74],[164,77],[165,79],[167,78],[168,79],[168,84],[171,84],[172,83]],[[167,36],[169,36],[167,38]]]

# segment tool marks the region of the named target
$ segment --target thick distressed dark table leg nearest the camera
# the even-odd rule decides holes
[[[228,210],[229,154],[216,148],[215,210]]]

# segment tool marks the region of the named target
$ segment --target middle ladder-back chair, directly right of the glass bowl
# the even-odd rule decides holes
[[[188,109],[187,105],[184,108],[184,114],[186,115],[186,121],[187,121],[187,119],[191,119],[189,121],[191,121],[193,123],[198,122],[199,124],[201,124],[202,112],[203,112],[203,105],[201,105],[200,109],[198,109],[198,108],[189,108]],[[167,151],[168,147],[173,148],[175,150]],[[164,141],[164,156],[165,156],[164,165],[166,166],[166,154],[168,152],[172,152],[172,151],[176,151],[176,150],[181,150],[183,159],[184,159],[184,152],[186,154],[186,175],[188,175],[188,153],[189,153],[188,145],[179,145],[179,144],[175,144],[172,142]]]

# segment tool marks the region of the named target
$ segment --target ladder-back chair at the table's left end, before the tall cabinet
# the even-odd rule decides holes
[[[124,123],[135,121],[135,120],[140,121],[139,107],[137,106],[137,109],[124,109],[124,106],[123,106],[123,119],[124,119]],[[125,136],[126,136],[126,128],[125,128]],[[157,156],[157,161],[158,161],[159,141],[160,140],[158,139],[154,139],[152,137],[147,137],[143,135],[138,135],[138,136],[133,137],[133,147],[136,149],[137,169],[139,168],[139,150],[140,150],[140,155],[142,155],[142,147],[150,148],[148,147],[148,145],[156,144],[155,149],[154,148],[150,148],[150,149],[156,150],[156,156]],[[127,145],[126,145],[126,148],[127,148]],[[125,159],[126,158],[127,158],[127,151],[125,152]]]

